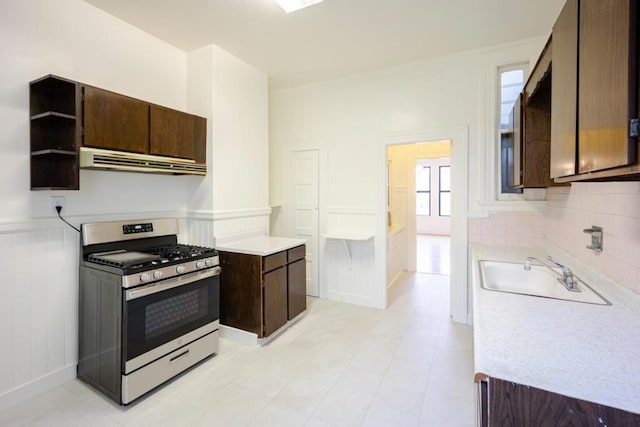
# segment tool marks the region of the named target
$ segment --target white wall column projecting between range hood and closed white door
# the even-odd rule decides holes
[[[267,76],[213,45],[190,52],[187,62],[188,104],[209,118],[210,172],[191,192],[190,234],[209,246],[267,234]]]

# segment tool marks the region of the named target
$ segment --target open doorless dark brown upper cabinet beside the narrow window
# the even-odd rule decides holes
[[[551,38],[513,109],[513,188],[545,188],[550,178]]]

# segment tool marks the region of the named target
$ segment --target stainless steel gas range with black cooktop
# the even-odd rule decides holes
[[[218,352],[220,262],[176,219],[83,224],[78,378],[128,404]]]

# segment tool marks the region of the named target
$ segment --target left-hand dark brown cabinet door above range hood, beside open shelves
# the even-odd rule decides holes
[[[84,140],[87,147],[149,151],[149,104],[84,86]]]

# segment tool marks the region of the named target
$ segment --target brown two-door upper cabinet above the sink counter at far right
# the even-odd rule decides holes
[[[551,177],[637,175],[638,10],[634,0],[568,0],[553,27]]]

